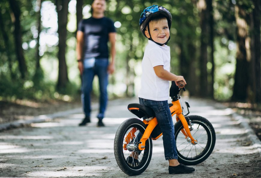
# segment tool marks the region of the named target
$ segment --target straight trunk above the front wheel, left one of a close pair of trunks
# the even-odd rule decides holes
[[[199,58],[199,69],[200,69],[200,77],[199,77],[199,95],[202,97],[208,96],[208,73],[207,73],[207,62],[208,62],[208,17],[209,12],[207,9],[206,1],[204,2],[204,6],[202,7],[200,14],[200,27],[201,27],[201,36],[200,36],[200,58]]]

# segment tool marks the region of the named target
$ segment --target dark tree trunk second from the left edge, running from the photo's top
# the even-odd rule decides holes
[[[24,58],[24,53],[22,49],[22,32],[20,25],[20,14],[21,10],[19,8],[18,2],[16,0],[9,0],[10,8],[12,9],[14,15],[14,39],[15,39],[15,50],[16,58],[19,63],[19,70],[21,73],[21,78],[24,79],[27,73],[26,61]]]

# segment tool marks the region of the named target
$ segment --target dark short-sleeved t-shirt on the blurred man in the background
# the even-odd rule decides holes
[[[84,32],[83,57],[108,58],[109,33],[116,32],[114,23],[107,17],[83,19],[78,30]]]

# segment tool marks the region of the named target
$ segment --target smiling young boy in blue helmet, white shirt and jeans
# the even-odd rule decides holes
[[[170,12],[158,5],[146,8],[140,16],[140,29],[149,39],[143,60],[141,89],[138,94],[140,104],[155,111],[158,124],[163,133],[165,159],[169,161],[169,173],[190,173],[195,169],[178,162],[174,125],[170,108],[169,81],[183,81],[182,76],[170,73],[170,26],[172,16]]]

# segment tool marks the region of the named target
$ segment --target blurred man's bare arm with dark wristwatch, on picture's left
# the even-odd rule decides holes
[[[84,33],[82,31],[77,31],[76,56],[77,56],[77,61],[78,61],[78,68],[79,68],[81,75],[83,72],[83,64],[82,64],[82,47],[83,47],[83,42],[84,42],[83,38],[84,38]]]

